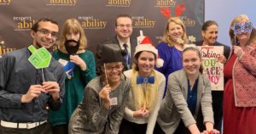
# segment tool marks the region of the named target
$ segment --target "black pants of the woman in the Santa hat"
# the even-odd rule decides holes
[[[120,128],[119,134],[144,134],[147,131],[148,124],[137,124],[123,119]]]

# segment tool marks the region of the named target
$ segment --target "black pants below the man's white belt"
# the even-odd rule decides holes
[[[51,134],[51,127],[46,122],[32,129],[8,128],[0,126],[0,134]]]

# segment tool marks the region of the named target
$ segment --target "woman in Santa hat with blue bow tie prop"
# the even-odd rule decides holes
[[[154,131],[166,85],[165,76],[154,70],[156,64],[160,65],[157,55],[157,49],[146,36],[136,47],[133,69],[124,72],[131,80],[131,90],[120,134],[152,134]]]

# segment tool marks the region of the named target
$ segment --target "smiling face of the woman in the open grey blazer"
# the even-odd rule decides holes
[[[186,75],[198,75],[200,73],[200,68],[200,52],[198,50],[195,50],[195,48],[189,48],[188,50],[183,51],[183,70],[185,70]]]

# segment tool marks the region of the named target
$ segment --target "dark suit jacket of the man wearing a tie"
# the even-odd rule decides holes
[[[137,46],[137,40],[135,39],[131,39],[130,37],[130,42],[131,42],[131,63],[133,61],[133,54],[135,52],[135,47]],[[116,47],[120,48],[121,51],[121,47],[119,45],[119,40],[117,38],[117,36],[113,36],[112,38],[108,38],[107,40],[100,42],[97,47],[96,47],[96,75],[101,75],[101,59],[102,59],[102,46],[106,45],[106,44],[116,44]],[[124,62],[123,62],[125,68],[125,70],[129,70],[127,68],[126,62],[125,62],[125,56],[124,56]],[[132,67],[132,64],[130,64],[130,69]]]

